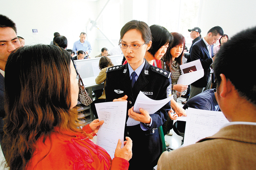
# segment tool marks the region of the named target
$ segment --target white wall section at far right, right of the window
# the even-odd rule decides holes
[[[213,26],[220,26],[232,37],[256,26],[256,0],[204,0],[199,27],[205,36]]]

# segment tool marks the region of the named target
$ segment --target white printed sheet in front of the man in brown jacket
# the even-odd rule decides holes
[[[229,121],[222,112],[188,108],[184,144],[187,146],[214,135]]]

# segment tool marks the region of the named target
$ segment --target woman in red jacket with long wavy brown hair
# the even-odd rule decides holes
[[[38,44],[12,53],[5,68],[6,165],[10,170],[128,170],[132,141],[113,160],[90,139],[104,121],[78,120],[77,73],[69,52]]]

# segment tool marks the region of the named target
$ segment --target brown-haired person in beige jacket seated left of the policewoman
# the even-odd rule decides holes
[[[105,85],[106,85],[106,77],[107,77],[107,68],[109,67],[113,67],[114,64],[111,62],[110,58],[106,57],[106,56],[102,56],[102,58],[100,58],[100,62],[99,62],[99,67],[100,67],[100,73],[99,75],[96,77],[95,79],[95,83],[97,84],[102,84],[104,82],[104,90],[102,92],[102,95],[94,100],[91,104],[92,107],[92,112],[94,114],[94,116],[96,117],[96,119],[98,119],[98,115],[96,112],[96,108],[95,108],[95,103],[101,103],[101,102],[105,102],[106,101],[106,95],[105,95]],[[95,91],[94,91],[95,93]]]

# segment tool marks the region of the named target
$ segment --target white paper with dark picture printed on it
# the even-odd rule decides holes
[[[204,69],[200,60],[191,61],[180,65],[182,75],[180,75],[177,84],[190,85],[204,76]],[[189,72],[193,70],[193,72]]]

